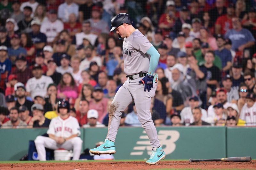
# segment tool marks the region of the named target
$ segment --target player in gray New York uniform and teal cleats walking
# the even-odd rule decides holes
[[[158,80],[157,74],[153,74],[160,55],[148,39],[131,24],[132,20],[126,13],[120,13],[111,20],[110,32],[116,30],[119,39],[124,39],[124,72],[127,80],[109,106],[108,135],[105,142],[90,152],[98,155],[116,153],[114,142],[122,112],[134,100],[139,121],[152,146],[150,158],[146,163],[156,164],[165,158],[150,113],[151,98],[155,96]]]

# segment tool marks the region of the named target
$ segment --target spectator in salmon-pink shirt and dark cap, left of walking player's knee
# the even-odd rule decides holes
[[[103,118],[107,114],[108,99],[104,98],[103,89],[101,87],[95,87],[92,93],[93,100],[90,101],[90,109],[95,109],[99,113],[99,122],[102,122]]]

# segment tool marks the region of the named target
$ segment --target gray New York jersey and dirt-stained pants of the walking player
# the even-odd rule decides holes
[[[135,30],[128,38],[124,38],[123,56],[126,75],[148,72],[150,56],[146,52],[151,46],[148,39],[138,30]],[[155,76],[154,87],[149,92],[144,92],[144,85],[139,83],[141,79],[139,77],[133,80],[127,78],[124,85],[117,91],[109,106],[107,139],[115,142],[122,112],[134,100],[139,121],[148,135],[151,146],[159,147],[156,127],[150,113],[151,98],[155,96],[158,77]]]

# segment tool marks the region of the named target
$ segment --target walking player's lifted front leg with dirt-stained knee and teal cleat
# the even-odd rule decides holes
[[[131,93],[128,90],[129,82],[126,80],[123,86],[119,88],[109,106],[108,135],[105,142],[90,150],[92,154],[113,154],[116,152],[115,140],[120,125],[121,115],[124,109],[132,102]]]

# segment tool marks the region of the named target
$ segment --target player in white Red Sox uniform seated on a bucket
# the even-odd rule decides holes
[[[69,116],[69,103],[66,100],[58,102],[60,115],[53,118],[47,134],[49,137],[36,137],[35,144],[39,160],[46,160],[45,147],[49,149],[73,149],[73,160],[78,160],[82,149],[80,127],[76,118]]]

